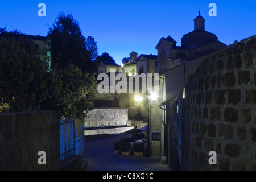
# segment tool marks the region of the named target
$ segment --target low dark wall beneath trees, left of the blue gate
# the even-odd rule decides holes
[[[58,170],[60,116],[56,111],[0,114],[0,170]],[[46,165],[38,152],[46,152]]]

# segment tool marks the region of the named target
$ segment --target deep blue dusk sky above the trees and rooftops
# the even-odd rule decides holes
[[[46,17],[38,16],[38,4],[46,4]],[[210,17],[209,3],[216,3],[217,17]],[[255,35],[256,1],[1,1],[0,27],[24,34],[46,36],[59,12],[73,13],[82,34],[93,36],[98,52],[108,52],[117,64],[132,51],[157,55],[160,38],[170,35],[180,46],[181,37],[193,31],[193,19],[205,18],[205,30],[232,44]]]

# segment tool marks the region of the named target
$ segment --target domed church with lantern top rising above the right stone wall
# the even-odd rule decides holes
[[[155,47],[158,50],[157,73],[163,73],[226,47],[215,34],[205,31],[205,19],[200,15],[200,11],[199,16],[194,19],[194,30],[181,38],[181,46],[177,46],[176,43],[171,36],[160,39]]]

